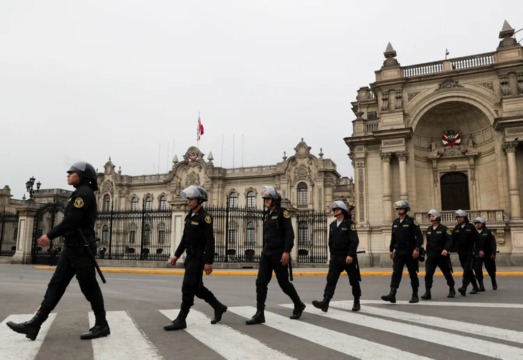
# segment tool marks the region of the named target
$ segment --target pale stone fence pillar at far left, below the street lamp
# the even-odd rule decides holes
[[[18,217],[18,237],[16,240],[16,252],[11,259],[11,264],[30,264],[32,260],[31,248],[33,246],[33,226],[36,212],[41,204],[35,201],[26,201],[20,208]]]

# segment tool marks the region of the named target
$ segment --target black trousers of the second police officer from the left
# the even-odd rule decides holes
[[[190,256],[185,258],[185,274],[181,285],[181,303],[187,310],[195,304],[195,295],[198,299],[204,300],[207,304],[215,306],[218,299],[204,286],[202,267],[204,265],[204,255]]]

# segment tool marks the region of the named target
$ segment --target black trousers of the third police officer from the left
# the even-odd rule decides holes
[[[267,285],[273,277],[273,270],[278,280],[278,285],[287,294],[295,305],[300,304],[301,300],[289,281],[289,265],[282,265],[283,249],[264,249],[259,258],[258,276],[256,278],[256,307],[257,310],[265,309],[267,299]]]

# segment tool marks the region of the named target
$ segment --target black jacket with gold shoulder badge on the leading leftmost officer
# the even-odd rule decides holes
[[[94,191],[86,184],[79,184],[66,204],[63,220],[47,233],[50,240],[63,236],[65,240],[82,240],[78,230],[82,230],[87,240],[94,239],[94,222],[98,208],[96,207],[96,196]]]

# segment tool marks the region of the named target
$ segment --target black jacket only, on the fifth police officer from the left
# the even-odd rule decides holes
[[[400,222],[399,217],[395,219],[389,251],[392,252],[394,249],[399,251],[414,251],[417,249],[419,251],[421,246],[423,246],[423,233],[421,233],[418,221],[414,217],[409,217],[409,215],[402,222]]]

